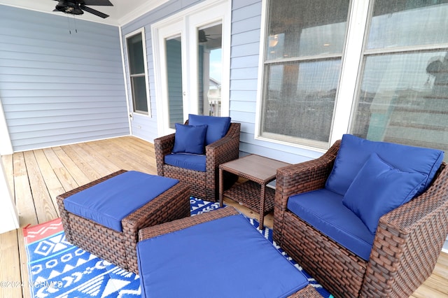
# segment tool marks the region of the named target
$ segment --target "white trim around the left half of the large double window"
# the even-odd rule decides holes
[[[358,78],[359,66],[363,54],[363,41],[365,29],[367,26],[367,17],[369,11],[369,0],[351,0],[348,29],[346,33],[346,44],[344,52],[342,52],[342,71],[339,78],[338,92],[335,99],[335,110],[333,111],[333,122],[330,132],[330,141],[328,148],[317,148],[307,146],[300,143],[290,143],[287,141],[279,141],[268,139],[260,135],[261,119],[262,119],[262,90],[263,90],[263,71],[265,69],[265,36],[267,31],[267,1],[262,1],[262,17],[260,30],[260,57],[258,61],[258,87],[257,102],[255,111],[255,134],[254,139],[267,141],[269,143],[277,143],[314,152],[325,152],[332,143],[342,138],[343,134],[349,132],[351,121],[351,110],[355,103],[356,83]]]

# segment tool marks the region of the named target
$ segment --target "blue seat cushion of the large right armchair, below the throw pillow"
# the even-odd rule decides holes
[[[342,204],[343,199],[342,195],[323,188],[291,196],[287,208],[325,236],[369,260],[374,235]]]

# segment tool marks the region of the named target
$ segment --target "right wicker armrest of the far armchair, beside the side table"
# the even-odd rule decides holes
[[[230,123],[229,130],[223,138],[205,147],[207,171],[218,169],[220,164],[239,157],[239,132],[241,123]]]

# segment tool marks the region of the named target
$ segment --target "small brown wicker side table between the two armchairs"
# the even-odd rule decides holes
[[[290,164],[260,155],[247,155],[239,159],[220,164],[219,166],[219,204],[223,206],[223,195],[260,215],[260,226],[263,228],[265,215],[274,210],[275,191],[267,187],[267,183],[275,180],[276,169]],[[248,179],[229,190],[223,191],[223,172],[228,171]]]

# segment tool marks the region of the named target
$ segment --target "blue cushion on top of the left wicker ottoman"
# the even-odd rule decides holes
[[[127,171],[64,199],[70,213],[123,232],[121,220],[179,180]]]

